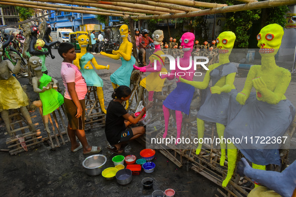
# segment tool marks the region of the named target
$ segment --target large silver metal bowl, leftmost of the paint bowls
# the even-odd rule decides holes
[[[88,156],[82,162],[85,172],[88,175],[99,175],[103,171],[103,166],[107,161],[107,157],[102,154],[93,154]]]

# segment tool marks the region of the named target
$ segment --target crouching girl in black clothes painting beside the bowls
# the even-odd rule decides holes
[[[130,124],[136,124],[144,116],[146,110],[153,104],[152,101],[149,102],[142,109],[141,113],[135,117],[134,114],[129,114],[122,105],[122,102],[128,100],[131,94],[132,90],[128,86],[120,85],[114,89],[112,94],[113,99],[107,108],[105,134],[110,145],[114,146],[113,148],[107,148],[116,154],[124,151],[122,149],[123,143],[131,139],[136,139],[145,133],[144,126],[127,127]]]

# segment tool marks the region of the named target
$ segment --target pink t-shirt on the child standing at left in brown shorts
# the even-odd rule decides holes
[[[75,82],[75,91],[78,99],[82,100],[85,98],[85,94],[87,93],[86,82],[76,65],[73,63],[62,62],[61,76],[66,87],[64,94],[65,98],[72,99],[67,87],[67,83],[69,82]]]

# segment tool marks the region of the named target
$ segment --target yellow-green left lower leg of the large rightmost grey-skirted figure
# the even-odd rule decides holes
[[[222,187],[226,187],[228,182],[231,180],[237,159],[237,149],[234,144],[228,143],[227,146],[228,170],[226,178],[222,182]]]

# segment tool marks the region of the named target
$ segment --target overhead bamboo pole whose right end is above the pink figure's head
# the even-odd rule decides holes
[[[67,0],[71,2],[84,2],[85,0]],[[161,11],[161,12],[168,12],[168,13],[183,13],[184,11],[175,10],[175,9],[169,9],[164,7],[156,7],[152,5],[143,5],[143,4],[137,4],[137,3],[127,3],[127,2],[107,2],[107,1],[94,1],[94,0],[88,0],[88,2],[96,2],[98,4],[107,4],[107,5],[115,5],[120,7],[130,7],[130,8],[137,8],[137,9],[147,9],[147,10],[153,10],[153,11]],[[71,3],[73,4],[73,3]]]

